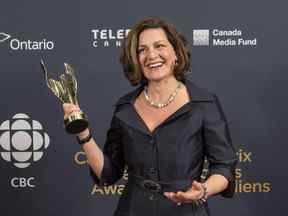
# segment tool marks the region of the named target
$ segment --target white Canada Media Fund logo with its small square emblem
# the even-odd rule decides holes
[[[257,46],[257,38],[244,35],[240,29],[194,29],[193,46],[213,47],[254,47]]]

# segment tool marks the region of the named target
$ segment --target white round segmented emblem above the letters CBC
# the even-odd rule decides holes
[[[40,160],[49,142],[42,125],[24,113],[14,115],[12,120],[0,125],[0,155],[15,167],[26,168]]]

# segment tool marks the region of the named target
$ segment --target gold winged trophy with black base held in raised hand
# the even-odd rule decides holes
[[[77,81],[73,68],[64,63],[64,74],[60,75],[60,81],[48,78],[48,72],[44,61],[41,60],[41,67],[45,75],[48,88],[56,95],[62,103],[78,104],[77,101]],[[88,127],[88,120],[82,111],[72,113],[64,119],[66,131],[71,134],[77,134]]]

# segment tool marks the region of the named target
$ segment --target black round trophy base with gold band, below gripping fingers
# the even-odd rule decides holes
[[[74,113],[64,120],[67,133],[78,134],[88,128],[89,122],[82,112]]]

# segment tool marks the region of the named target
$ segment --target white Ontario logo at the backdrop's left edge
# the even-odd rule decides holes
[[[53,50],[55,47],[55,43],[46,38],[41,40],[21,40],[5,32],[0,32],[0,44],[8,41],[12,50]]]

